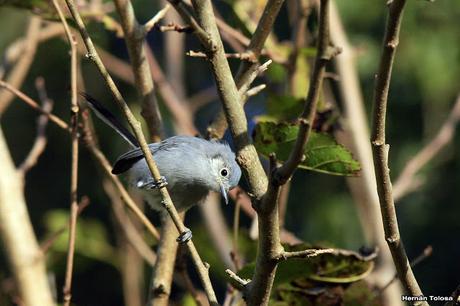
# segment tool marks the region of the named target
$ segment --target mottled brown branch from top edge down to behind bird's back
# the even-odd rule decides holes
[[[150,67],[145,52],[144,27],[139,25],[134,8],[130,0],[115,0],[115,6],[120,15],[121,25],[131,59],[131,68],[134,73],[134,85],[142,98],[142,111],[150,136],[154,142],[163,138],[163,120],[155,96]],[[167,11],[167,10],[166,10]],[[164,12],[166,13],[166,12]],[[161,14],[160,14],[161,17]],[[90,52],[91,53],[91,52]]]

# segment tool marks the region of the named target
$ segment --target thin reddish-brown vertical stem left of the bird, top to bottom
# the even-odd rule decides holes
[[[75,235],[77,230],[78,218],[78,98],[77,98],[77,41],[75,40],[67,24],[64,13],[61,11],[57,0],[53,0],[53,5],[59,14],[62,25],[70,45],[70,84],[71,84],[71,104],[70,104],[70,126],[72,138],[72,157],[70,170],[70,220],[69,220],[69,247],[67,251],[67,262],[65,272],[65,282],[62,288],[64,306],[70,306],[72,298],[72,273],[75,255]]]

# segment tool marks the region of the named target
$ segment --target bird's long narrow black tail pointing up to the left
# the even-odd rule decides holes
[[[99,117],[105,124],[110,126],[114,129],[124,140],[126,140],[133,148],[139,147],[139,142],[137,141],[136,137],[128,131],[118,120],[115,116],[105,108],[102,103],[91,97],[89,94],[85,92],[80,92],[80,96],[82,96],[87,102],[88,106],[94,111],[96,116]]]

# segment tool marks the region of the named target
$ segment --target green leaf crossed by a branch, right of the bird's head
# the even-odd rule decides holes
[[[253,138],[257,151],[269,156],[275,153],[280,161],[286,161],[297,139],[299,126],[288,123],[259,122]],[[305,160],[299,168],[332,175],[357,175],[359,162],[350,151],[337,144],[331,136],[313,132],[306,145]]]

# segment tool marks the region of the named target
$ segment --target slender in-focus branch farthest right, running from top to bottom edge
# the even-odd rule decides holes
[[[377,191],[380,199],[385,238],[390,248],[398,277],[406,290],[412,296],[421,296],[422,291],[410,267],[406,250],[402,244],[398,219],[391,190],[391,179],[388,168],[389,145],[385,143],[385,116],[390,87],[391,70],[399,39],[402,12],[405,0],[394,0],[389,4],[383,53],[380,59],[379,71],[374,87],[374,107],[372,124],[372,151],[374,153],[374,168],[377,180]],[[421,305],[428,305],[421,302]]]

